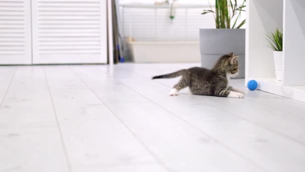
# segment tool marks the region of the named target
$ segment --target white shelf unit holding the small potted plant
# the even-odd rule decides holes
[[[247,2],[246,84],[258,90],[305,102],[305,1],[253,0]],[[276,81],[272,50],[265,34],[283,28],[283,78]]]

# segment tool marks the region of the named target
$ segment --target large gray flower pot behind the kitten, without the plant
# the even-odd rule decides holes
[[[245,77],[245,29],[200,29],[201,66],[211,69],[223,54],[239,55],[239,75]]]

